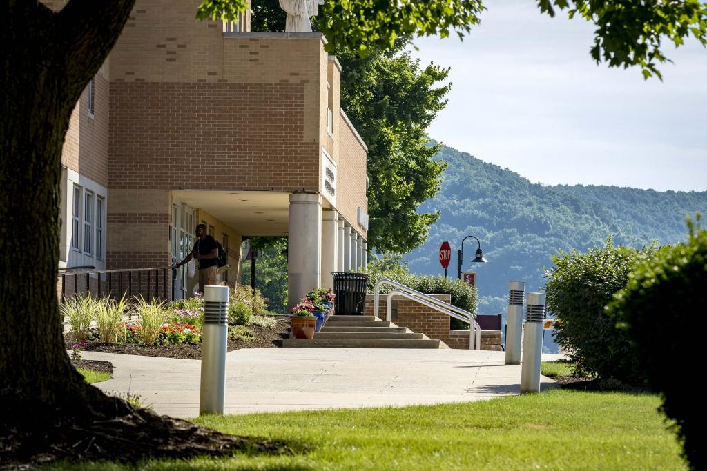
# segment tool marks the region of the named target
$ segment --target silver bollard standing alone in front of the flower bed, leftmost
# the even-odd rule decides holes
[[[228,287],[205,286],[199,415],[223,414],[226,400],[227,311]]]

